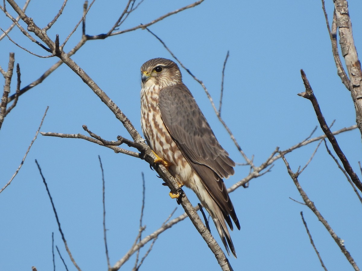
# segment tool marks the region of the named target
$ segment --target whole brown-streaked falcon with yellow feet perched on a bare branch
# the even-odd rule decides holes
[[[240,224],[223,181],[234,174],[235,163],[182,83],[176,63],[164,58],[148,60],[141,76],[141,124],[148,145],[178,184],[196,193],[227,253],[230,249],[236,257],[226,223],[231,230],[231,219],[239,230]]]

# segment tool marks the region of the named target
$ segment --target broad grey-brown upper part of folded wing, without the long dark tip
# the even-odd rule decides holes
[[[220,178],[234,174],[235,163],[220,146],[209,123],[185,85],[160,91],[162,120],[180,149],[192,162],[206,165]]]

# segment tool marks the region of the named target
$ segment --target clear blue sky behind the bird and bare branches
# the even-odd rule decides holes
[[[22,5],[24,1],[21,2]],[[333,1],[326,0],[329,18]],[[128,29],[147,23],[191,1],[145,0],[120,27]],[[26,14],[45,27],[62,1],[33,0]],[[106,33],[120,16],[125,1],[96,1],[87,16],[87,34]],[[8,5],[8,9],[11,10]],[[82,16],[83,1],[69,1],[58,22],[48,31],[63,41]],[[349,1],[357,50],[362,50],[362,2]],[[14,12],[12,14],[15,14]],[[14,15],[15,16],[15,15]],[[0,27],[8,18],[0,13]],[[22,23],[24,26],[24,23]],[[254,163],[263,163],[279,146],[282,150],[308,137],[322,134],[311,103],[297,93],[304,91],[300,69],[304,69],[332,130],[355,124],[349,91],[336,73],[331,42],[321,1],[212,1],[185,10],[152,25],[150,29],[201,79],[216,104],[220,96],[222,66],[228,50],[222,117],[241,148]],[[10,36],[40,55],[47,53],[30,42],[18,29]],[[79,41],[77,30],[64,48]],[[0,65],[7,69],[9,52],[15,52],[21,67],[22,87],[41,76],[58,59],[40,59],[0,42]],[[361,51],[360,51],[361,53]],[[146,30],[88,41],[72,59],[104,90],[140,132],[140,66],[154,57],[171,58],[162,44]],[[244,163],[229,135],[217,120],[202,87],[181,70],[184,83],[195,96],[216,137],[237,163]],[[4,81],[1,81],[4,85]],[[16,80],[13,79],[12,93]],[[82,125],[107,140],[118,135],[130,138],[121,122],[66,65],[60,66],[42,84],[22,95],[6,117],[0,131],[0,186],[5,185],[21,162],[39,126],[49,111],[42,132],[82,133]],[[361,134],[337,136],[352,167],[359,173]],[[317,142],[288,154],[292,170],[308,161]],[[331,148],[331,147],[330,147]],[[331,148],[332,149],[332,148]],[[0,194],[0,270],[23,271],[36,266],[52,270],[51,235],[69,270],[71,264],[58,232],[55,216],[34,162],[38,160],[48,182],[58,216],[73,257],[82,270],[106,270],[102,231],[101,156],[106,182],[106,227],[110,261],[113,265],[132,246],[139,225],[142,177],[146,182],[143,236],[158,229],[177,207],[167,187],[143,160],[82,139],[44,137],[39,134],[20,172]],[[249,173],[235,168],[226,180],[229,187]],[[359,175],[360,176],[360,175]],[[300,184],[344,240],[346,248],[362,266],[361,203],[337,168],[324,144],[299,177]],[[198,200],[186,189],[191,202]],[[289,197],[302,201],[281,160],[271,172],[250,182],[247,189],[231,193],[241,230],[231,233],[237,259],[229,257],[234,270],[322,270],[300,217],[303,211],[315,245],[330,271],[352,270],[340,249],[312,211]],[[211,232],[220,238],[214,225]],[[141,250],[145,253],[148,246]],[[65,270],[58,255],[56,270]],[[133,257],[123,270],[131,270]],[[140,270],[220,270],[214,255],[189,219],[164,232],[156,241]]]

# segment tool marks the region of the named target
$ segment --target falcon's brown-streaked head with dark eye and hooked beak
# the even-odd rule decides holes
[[[180,69],[172,60],[155,58],[148,60],[141,67],[142,86],[149,84],[161,88],[182,83]]]

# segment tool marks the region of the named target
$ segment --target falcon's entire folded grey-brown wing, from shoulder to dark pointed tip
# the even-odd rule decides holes
[[[234,174],[235,163],[220,146],[210,125],[185,85],[160,91],[161,118],[178,147],[198,173],[218,204],[230,228],[229,214],[240,229],[239,221],[222,178]]]

